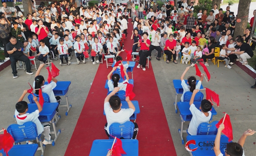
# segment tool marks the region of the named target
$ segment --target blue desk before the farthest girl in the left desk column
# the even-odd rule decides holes
[[[44,84],[48,84],[48,82],[45,82]],[[67,98],[67,92],[68,92],[70,84],[71,84],[71,81],[58,81],[57,86],[53,89],[53,93],[55,96],[66,97],[67,105],[59,106],[59,107],[67,107],[66,116],[68,115],[70,109],[72,108],[72,105],[68,104],[68,98]]]

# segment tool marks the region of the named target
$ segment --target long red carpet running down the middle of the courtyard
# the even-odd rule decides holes
[[[128,39],[125,40],[125,49],[128,50],[133,44],[133,40],[130,40],[132,31],[130,23],[129,26]],[[121,54],[122,58],[126,57],[125,52]],[[139,126],[137,136],[139,156],[176,156],[152,66],[150,64],[145,72],[137,69],[136,66],[134,68],[136,97],[133,100],[139,101],[140,105],[140,114],[137,115],[136,120]],[[107,90],[104,88],[105,79],[110,71],[111,68],[106,69],[105,62],[99,65],[65,156],[88,156],[93,140],[108,139],[104,130],[106,117],[103,115],[103,104],[107,95]],[[131,78],[131,73],[128,75]]]

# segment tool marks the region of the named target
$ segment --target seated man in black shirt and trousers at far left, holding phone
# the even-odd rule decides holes
[[[17,70],[16,70],[17,61],[25,62],[27,74],[29,75],[34,74],[33,72],[31,72],[29,58],[23,54],[23,51],[25,51],[25,49],[23,44],[20,41],[17,41],[16,38],[12,36],[10,38],[10,42],[6,44],[6,50],[10,55],[13,78],[18,77]]]

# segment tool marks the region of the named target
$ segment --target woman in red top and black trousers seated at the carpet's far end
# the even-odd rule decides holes
[[[150,55],[149,46],[151,42],[150,40],[148,40],[147,32],[143,32],[142,36],[143,36],[143,40],[142,41],[139,40],[139,43],[138,43],[138,47],[140,47],[140,52],[139,52],[140,62],[137,68],[140,68],[140,66],[142,66],[143,71],[145,71],[146,60],[147,60],[147,57]]]

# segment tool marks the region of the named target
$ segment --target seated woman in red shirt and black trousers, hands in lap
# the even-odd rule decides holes
[[[169,40],[166,40],[166,46],[164,48],[164,53],[167,55],[166,63],[169,64],[173,55],[173,63],[177,64],[176,61],[176,40],[173,39],[173,34],[169,35]]]

